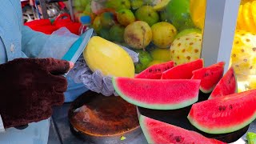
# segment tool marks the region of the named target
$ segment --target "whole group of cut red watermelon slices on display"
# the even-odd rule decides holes
[[[204,67],[198,59],[174,66],[170,61],[150,66],[135,78],[113,78],[113,85],[123,99],[139,107],[181,112],[190,108],[183,117],[202,134],[229,134],[256,118],[256,90],[236,93],[234,69],[222,75],[224,65]],[[142,114],[139,121],[149,143],[224,143]]]

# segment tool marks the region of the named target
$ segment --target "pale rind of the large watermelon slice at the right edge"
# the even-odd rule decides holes
[[[254,119],[256,118],[256,111],[254,113],[254,116],[252,116],[252,118],[249,118],[248,120],[246,120],[245,122],[242,122],[242,124],[238,125],[238,126],[229,126],[229,127],[214,127],[214,128],[207,128],[205,126],[201,126],[198,122],[195,122],[193,120],[193,118],[190,118],[190,115],[187,116],[187,118],[189,119],[190,123],[195,126],[196,128],[198,128],[198,130],[201,130],[205,133],[208,134],[227,134],[227,133],[232,133],[236,130],[240,130],[243,127],[249,125],[251,122],[254,121]]]

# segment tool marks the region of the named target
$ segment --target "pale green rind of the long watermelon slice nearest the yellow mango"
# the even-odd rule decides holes
[[[191,98],[190,100],[186,100],[184,102],[180,102],[178,104],[170,104],[170,103],[166,103],[166,104],[148,104],[145,102],[138,102],[137,100],[128,98],[126,96],[126,94],[122,94],[122,91],[118,89],[117,83],[115,82],[115,78],[112,78],[112,83],[114,86],[114,90],[119,94],[119,96],[121,96],[124,100],[126,100],[126,102],[129,102],[135,106],[140,106],[140,107],[144,107],[146,109],[153,109],[153,110],[177,110],[177,109],[181,109],[184,108],[186,106],[190,106],[192,104],[194,104],[195,102],[198,102],[198,96],[196,96],[195,98]]]

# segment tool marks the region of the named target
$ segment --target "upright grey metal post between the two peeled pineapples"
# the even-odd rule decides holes
[[[205,66],[226,62],[229,68],[240,0],[207,0],[202,56]]]

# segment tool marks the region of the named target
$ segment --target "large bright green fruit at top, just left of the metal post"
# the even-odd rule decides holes
[[[168,19],[178,31],[193,28],[190,17],[190,0],[171,0],[166,6]]]

